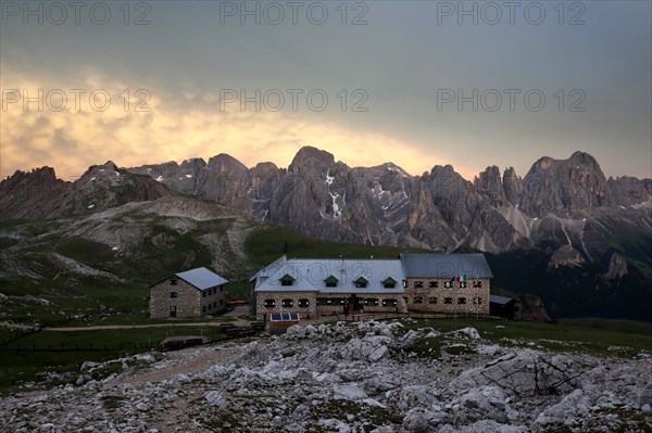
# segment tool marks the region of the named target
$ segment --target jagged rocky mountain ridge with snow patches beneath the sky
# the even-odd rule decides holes
[[[273,163],[247,168],[218,154],[208,163],[191,158],[122,170],[106,163],[71,183],[43,167],[0,182],[0,219],[88,214],[174,193],[314,238],[439,252],[565,245],[606,267],[613,252],[623,250],[610,233],[624,228],[652,239],[652,180],[606,179],[584,152],[567,160],[541,157],[524,178],[511,167],[501,174],[490,166],[473,181],[450,165],[422,176],[392,163],[350,167],[310,147],[287,169]],[[643,250],[652,260],[652,252]]]

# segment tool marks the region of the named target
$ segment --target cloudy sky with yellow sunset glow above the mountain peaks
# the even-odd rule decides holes
[[[2,2],[0,171],[302,145],[413,175],[652,177],[650,1]]]

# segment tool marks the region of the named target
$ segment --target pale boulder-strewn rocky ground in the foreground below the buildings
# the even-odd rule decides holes
[[[652,431],[649,357],[506,348],[472,328],[292,327],[120,364],[101,381],[106,364],[86,362],[75,385],[3,398],[0,431]]]

